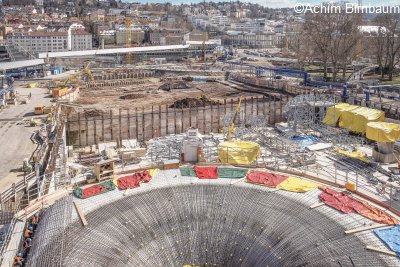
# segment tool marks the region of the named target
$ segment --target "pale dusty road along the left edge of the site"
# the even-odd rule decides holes
[[[21,122],[40,117],[34,116],[34,107],[37,104],[49,105],[51,100],[47,89],[23,88],[23,85],[25,83],[16,82],[14,87],[21,96],[32,93],[28,104],[8,105],[0,111],[0,191],[23,176],[23,173],[16,170],[22,167],[23,160],[29,158],[36,148],[30,137],[40,128],[29,127]]]

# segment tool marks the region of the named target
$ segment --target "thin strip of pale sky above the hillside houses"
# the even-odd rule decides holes
[[[170,2],[172,4],[190,4],[190,3],[199,3],[203,2],[202,0],[123,0],[124,2],[141,2],[141,3],[166,3]],[[206,0],[206,2],[209,2],[210,0]],[[223,2],[223,1],[216,1],[212,0],[213,2]],[[225,2],[228,2],[229,0],[225,0]],[[234,1],[232,1],[234,2]],[[302,4],[319,4],[322,2],[327,2],[327,0],[247,0],[243,2],[251,2],[251,3],[258,3],[263,6],[268,6],[272,8],[279,8],[279,7],[293,7],[297,3],[302,3]],[[337,1],[331,1],[331,2],[337,2]],[[357,3],[356,0],[348,0],[346,2],[354,2]],[[400,0],[363,0],[363,5],[368,5],[371,3],[372,5],[399,5]]]

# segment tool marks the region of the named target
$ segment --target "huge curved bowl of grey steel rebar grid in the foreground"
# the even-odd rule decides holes
[[[89,224],[75,222],[64,239],[63,266],[398,266],[365,250],[374,235],[344,235],[368,223],[330,207],[310,209],[305,194],[228,179],[197,181],[177,170],[148,184],[79,200]],[[111,203],[110,203],[111,202]],[[54,212],[54,211],[50,211]],[[47,225],[49,227],[50,225]],[[63,236],[53,237],[56,243]],[[48,248],[57,246],[48,245]],[[36,248],[33,248],[36,249]],[[43,250],[42,250],[43,251]],[[43,253],[43,252],[42,252]],[[46,251],[52,255],[51,250]],[[351,257],[351,260],[350,258]],[[33,265],[32,265],[33,266]],[[34,266],[50,266],[37,262]],[[54,265],[52,265],[54,266]]]

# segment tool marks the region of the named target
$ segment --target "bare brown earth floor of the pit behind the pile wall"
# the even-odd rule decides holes
[[[186,82],[187,89],[161,90],[164,82],[158,79],[146,80],[144,84],[118,86],[117,88],[85,88],[81,90],[76,102],[87,110],[118,110],[120,108],[142,108],[151,110],[151,106],[168,105],[185,98],[201,98],[204,95],[211,101],[222,101],[224,98],[243,96],[262,96],[256,93],[241,92],[218,82]]]

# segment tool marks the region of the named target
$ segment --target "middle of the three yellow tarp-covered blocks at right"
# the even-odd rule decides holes
[[[385,112],[381,110],[358,107],[342,112],[339,118],[339,127],[354,133],[365,134],[368,122],[383,121],[384,119]]]

